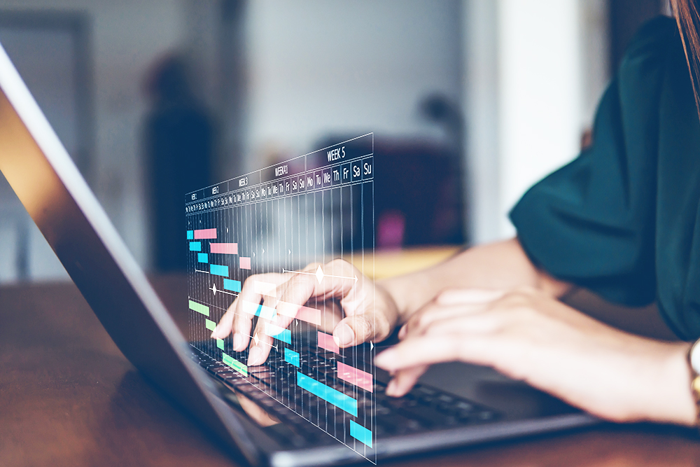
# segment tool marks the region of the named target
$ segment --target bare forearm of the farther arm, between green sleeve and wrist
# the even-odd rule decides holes
[[[475,246],[426,270],[380,281],[395,300],[400,321],[448,288],[500,288],[531,286],[560,297],[570,284],[538,270],[517,239]]]

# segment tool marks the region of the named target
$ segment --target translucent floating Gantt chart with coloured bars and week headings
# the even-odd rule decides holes
[[[320,290],[351,289],[360,272],[372,277],[373,142],[365,134],[187,193],[183,232],[191,345],[372,461],[374,344],[335,343],[338,294],[286,302],[285,288],[298,274]],[[327,265],[337,258],[358,272],[334,274]],[[269,346],[265,365],[248,366],[231,334],[211,337],[228,309],[252,321],[250,342]]]

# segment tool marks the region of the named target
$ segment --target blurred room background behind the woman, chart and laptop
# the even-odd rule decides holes
[[[366,132],[378,248],[513,235],[507,212],[586,144],[631,36],[668,13],[667,0],[0,0],[0,43],[139,263],[169,272],[184,264],[184,193]],[[0,239],[0,282],[67,278],[4,179]]]

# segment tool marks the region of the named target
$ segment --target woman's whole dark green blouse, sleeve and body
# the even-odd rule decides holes
[[[657,300],[700,337],[700,120],[671,18],[637,33],[598,106],[593,144],[510,213],[531,260],[606,300]]]

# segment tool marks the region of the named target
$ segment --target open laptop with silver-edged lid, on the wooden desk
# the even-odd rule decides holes
[[[235,461],[381,463],[598,422],[489,368],[462,363],[435,365],[407,396],[389,398],[388,375],[375,368],[369,387],[358,389],[355,382],[346,391],[337,365],[372,365],[362,361],[363,352],[341,361],[337,352],[300,340],[292,363],[280,345],[265,365],[245,371],[212,356],[211,342],[188,342],[176,327],[1,47],[0,91],[0,171],[123,354]],[[232,358],[227,345],[219,350]],[[270,396],[265,389],[292,364],[300,379],[288,381],[286,399]],[[309,382],[308,375],[315,379]],[[352,397],[360,391],[365,396]],[[339,400],[354,400],[358,412]],[[300,404],[305,411],[290,410]],[[360,412],[369,424],[349,435],[349,425],[362,424]]]

